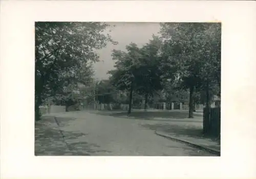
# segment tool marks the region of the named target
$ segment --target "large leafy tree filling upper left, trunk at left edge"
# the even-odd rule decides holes
[[[35,119],[43,101],[63,87],[84,81],[84,65],[111,41],[101,22],[35,22]],[[82,76],[82,78],[81,78]]]

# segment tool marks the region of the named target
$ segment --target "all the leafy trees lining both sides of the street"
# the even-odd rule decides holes
[[[221,24],[160,25],[161,36],[153,35],[144,46],[131,43],[125,51],[114,49],[116,69],[109,71],[109,80],[96,83],[92,63],[98,61],[97,49],[117,43],[105,33],[109,25],[36,22],[35,119],[40,118],[42,104],[67,108],[92,96],[100,103],[129,103],[128,114],[133,100],[143,96],[146,108],[147,101],[159,93],[165,94],[159,100],[189,98],[189,117],[196,99],[205,98],[209,107],[212,94],[220,96]],[[79,95],[74,95],[76,89]]]

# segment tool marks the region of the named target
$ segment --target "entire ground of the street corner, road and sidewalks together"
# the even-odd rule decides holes
[[[79,111],[44,115],[35,122],[35,155],[220,156],[219,143],[202,135],[202,115],[187,119],[184,113],[134,111],[128,117],[121,111]]]

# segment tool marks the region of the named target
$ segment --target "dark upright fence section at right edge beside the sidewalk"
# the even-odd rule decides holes
[[[207,108],[204,108],[203,133],[219,137],[221,134],[221,108],[210,108],[209,113],[207,111]]]

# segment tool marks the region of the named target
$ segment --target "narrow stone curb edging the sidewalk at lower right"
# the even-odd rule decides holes
[[[168,135],[158,133],[157,130],[155,131],[155,134],[158,135],[158,136],[161,136],[161,137],[165,137],[165,138],[168,138],[168,139],[177,141],[177,142],[181,142],[181,143],[188,144],[188,145],[193,146],[193,147],[195,147],[195,148],[207,150],[207,151],[208,151],[209,153],[211,153],[211,154],[221,156],[221,151],[220,151],[220,150],[208,148],[208,147],[205,147],[205,146],[202,146],[202,145],[199,145],[199,144],[195,144],[195,143],[193,143],[193,142],[189,142],[189,141],[186,141],[186,140],[181,140],[181,139],[178,139],[178,138],[175,138],[175,137],[170,137],[170,136],[168,136]]]

